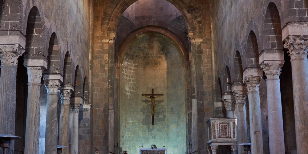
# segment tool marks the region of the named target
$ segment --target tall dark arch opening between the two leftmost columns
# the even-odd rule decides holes
[[[43,55],[43,26],[36,6],[30,10],[26,29],[26,50],[27,54]]]

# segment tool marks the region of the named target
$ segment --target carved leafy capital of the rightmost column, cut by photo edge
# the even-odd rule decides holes
[[[289,49],[291,61],[295,59],[307,59],[308,37],[292,36],[286,38],[286,43],[283,47]]]

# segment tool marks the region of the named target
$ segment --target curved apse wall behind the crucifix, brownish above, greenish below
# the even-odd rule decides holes
[[[124,53],[120,73],[120,151],[138,154],[163,143],[168,154],[186,153],[185,72],[182,52],[167,36],[141,34]],[[156,99],[155,124],[151,101],[142,93],[164,93]]]

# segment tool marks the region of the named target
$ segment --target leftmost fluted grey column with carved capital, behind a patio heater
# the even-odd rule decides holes
[[[15,134],[17,59],[23,52],[19,44],[0,45],[0,134]],[[14,153],[14,141],[8,151]]]

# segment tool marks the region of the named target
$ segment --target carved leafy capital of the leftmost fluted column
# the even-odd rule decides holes
[[[17,59],[24,52],[25,50],[19,44],[0,45],[1,65],[17,66]]]

